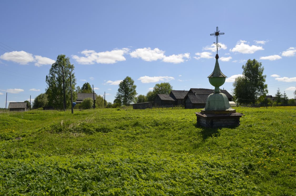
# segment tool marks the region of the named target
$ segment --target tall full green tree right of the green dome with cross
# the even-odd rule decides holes
[[[268,93],[267,84],[265,84],[266,75],[263,75],[264,67],[262,63],[256,59],[249,59],[245,65],[242,66],[244,77],[239,77],[237,82],[233,83],[234,96],[240,100],[248,100],[246,102],[255,103],[256,99],[261,95]],[[245,93],[236,94],[236,92],[242,92],[242,90],[236,90],[236,88],[243,87]],[[242,96],[243,95],[243,96]]]

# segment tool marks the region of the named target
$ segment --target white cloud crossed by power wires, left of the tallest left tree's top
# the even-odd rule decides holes
[[[12,52],[6,52],[0,56],[0,59],[6,60],[6,61],[12,61],[21,65],[26,65],[28,63],[34,63],[35,65],[40,67],[41,65],[50,65],[53,64],[55,61],[52,59],[49,59],[47,57],[35,55],[25,52],[25,51],[12,51]]]

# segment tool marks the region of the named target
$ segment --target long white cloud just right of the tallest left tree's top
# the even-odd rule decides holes
[[[84,56],[72,55],[79,64],[94,64],[94,63],[104,63],[113,64],[118,61],[125,61],[126,58],[123,56],[128,53],[128,48],[114,49],[112,51],[96,52],[94,50],[84,50],[81,52]]]

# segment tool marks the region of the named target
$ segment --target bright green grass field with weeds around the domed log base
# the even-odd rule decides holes
[[[296,195],[296,107],[0,114],[1,195]]]

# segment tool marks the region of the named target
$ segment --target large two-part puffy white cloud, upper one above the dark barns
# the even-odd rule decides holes
[[[162,51],[158,48],[138,48],[130,53],[132,58],[141,58],[144,61],[157,61],[162,60],[166,63],[182,63],[185,59],[190,58],[189,53],[184,54],[173,54],[170,56],[164,55],[165,51]]]

